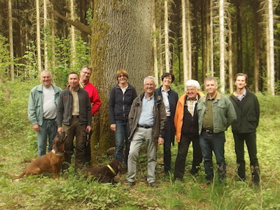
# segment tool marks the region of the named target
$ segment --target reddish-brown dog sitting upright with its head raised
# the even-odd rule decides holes
[[[22,174],[12,176],[13,179],[19,179],[24,175],[37,175],[45,172],[52,172],[53,178],[57,179],[62,168],[62,162],[64,162],[64,141],[66,137],[65,132],[62,132],[60,135],[58,134],[53,139],[52,151],[30,162]]]

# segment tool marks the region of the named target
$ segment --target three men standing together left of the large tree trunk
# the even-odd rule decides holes
[[[98,113],[101,102],[97,88],[89,82],[92,69],[83,66],[80,75],[70,72],[68,85],[62,90],[52,85],[50,71],[41,72],[41,85],[34,87],[29,94],[28,118],[37,132],[38,157],[52,151],[52,140],[63,130],[65,140],[65,162],[67,169],[73,155],[73,139],[76,137],[75,168],[82,169],[91,160],[90,139],[92,116]]]

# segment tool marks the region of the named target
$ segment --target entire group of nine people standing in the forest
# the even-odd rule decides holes
[[[92,116],[98,112],[101,102],[96,87],[89,82],[92,69],[83,66],[78,73],[69,73],[65,90],[51,84],[49,71],[41,72],[41,85],[34,87],[29,96],[28,116],[37,132],[38,156],[45,154],[47,137],[51,151],[55,134],[66,132],[65,160],[71,162],[73,138],[76,137],[75,168],[82,169],[90,161]],[[237,155],[238,179],[244,181],[244,141],[250,156],[253,185],[258,186],[260,171],[256,150],[256,128],[260,118],[258,99],[246,89],[248,77],[238,73],[235,77],[236,90],[230,97],[218,92],[216,78],[204,80],[206,95],[200,90],[197,80],[188,80],[186,93],[180,98],[171,89],[173,73],[162,75],[162,85],[156,89],[155,78],[144,78],[144,92],[137,95],[135,88],[127,82],[125,69],[116,73],[118,84],[109,95],[109,119],[115,132],[116,160],[127,167],[127,182],[135,185],[137,158],[141,145],[146,142],[148,172],[147,181],[153,188],[157,165],[158,145],[164,148],[165,174],[171,175],[171,146],[178,142],[178,153],[174,167],[174,180],[181,182],[186,168],[186,157],[190,142],[193,144],[193,164],[190,174],[197,175],[202,160],[207,184],[214,181],[212,154],[216,156],[218,181],[225,179],[225,130],[232,125]],[[123,149],[125,147],[125,155]],[[69,167],[64,164],[63,169]]]

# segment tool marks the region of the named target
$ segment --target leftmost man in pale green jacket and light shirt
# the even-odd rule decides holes
[[[48,151],[52,150],[52,140],[57,134],[57,102],[60,87],[52,85],[50,71],[41,72],[41,85],[33,87],[29,94],[28,119],[37,132],[38,157],[45,155],[48,139]]]

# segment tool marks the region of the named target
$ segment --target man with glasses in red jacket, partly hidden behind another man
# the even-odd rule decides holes
[[[98,113],[99,108],[101,106],[99,94],[97,92],[97,88],[90,83],[90,76],[92,74],[92,68],[90,66],[83,66],[80,70],[80,80],[79,85],[80,88],[83,88],[88,92],[88,96],[90,97],[90,104],[92,104],[92,117],[94,114]],[[89,163],[91,160],[91,152],[90,152],[90,139],[87,140],[87,144],[85,144],[85,167],[90,167]]]

